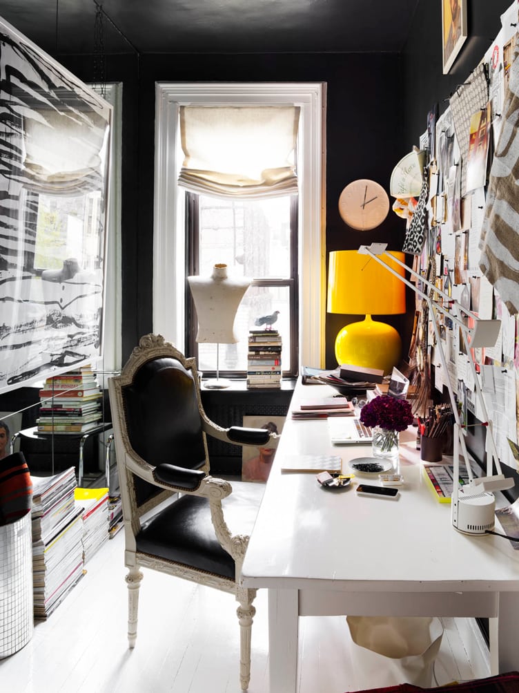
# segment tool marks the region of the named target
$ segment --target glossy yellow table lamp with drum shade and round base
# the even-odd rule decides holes
[[[404,254],[391,252],[403,263]],[[402,277],[405,270],[388,258],[388,265]],[[385,374],[398,365],[402,342],[394,327],[376,322],[372,315],[406,312],[406,285],[372,258],[356,250],[329,254],[329,313],[365,315],[361,322],[345,325],[335,340],[335,356],[341,364],[377,368]]]

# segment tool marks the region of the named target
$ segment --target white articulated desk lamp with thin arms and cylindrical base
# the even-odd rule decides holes
[[[441,344],[441,339],[439,335],[439,328],[437,321],[435,319],[436,311],[446,315],[450,320],[455,322],[461,328],[461,333],[466,347],[466,352],[468,354],[468,362],[471,365],[473,379],[475,382],[476,396],[481,406],[481,410],[484,414],[486,423],[488,427],[486,429],[486,475],[482,477],[475,477],[472,473],[471,464],[468,460],[468,451],[466,449],[465,437],[463,432],[462,423],[459,420],[459,412],[457,410],[457,402],[453,393],[453,389],[450,385],[450,380],[447,380],[447,389],[450,397],[450,404],[453,410],[453,415],[455,419],[454,424],[454,484],[453,484],[453,495],[451,497],[451,518],[453,527],[458,529],[459,532],[465,532],[466,534],[485,534],[487,531],[491,531],[495,526],[495,498],[492,491],[502,491],[504,489],[511,489],[514,482],[513,479],[509,477],[504,477],[501,471],[501,464],[498,458],[498,452],[495,447],[495,441],[492,432],[492,422],[488,420],[488,414],[486,412],[486,405],[484,403],[483,393],[480,387],[479,380],[477,379],[475,363],[471,353],[471,347],[493,347],[495,341],[498,338],[500,329],[500,320],[482,320],[471,310],[464,308],[458,301],[453,300],[446,293],[442,292],[435,286],[421,277],[417,272],[411,270],[404,263],[397,261],[399,265],[404,267],[413,277],[419,280],[421,284],[425,284],[433,290],[436,294],[443,297],[446,304],[450,307],[450,310],[446,310],[444,306],[441,306],[437,301],[434,301],[430,296],[421,291],[417,284],[412,283],[405,277],[401,277],[398,272],[395,272],[392,267],[388,265],[383,260],[384,255],[387,255],[385,248],[387,244],[385,243],[372,243],[369,247],[367,245],[361,245],[358,252],[364,255],[369,255],[376,262],[386,267],[388,272],[395,274],[403,283],[412,288],[412,290],[419,295],[422,299],[427,301],[430,315],[432,316],[432,326],[435,331],[439,356],[441,360],[441,367],[447,371],[447,362],[445,358],[444,349]],[[394,261],[394,256],[390,256],[392,261]],[[474,320],[474,327],[469,328],[459,315],[463,313],[464,315],[471,317]],[[470,342],[468,341],[470,337]],[[459,479],[459,448],[462,449],[462,454],[465,461],[466,470],[468,473],[468,484],[466,484],[463,489],[459,489],[459,484],[457,480]],[[495,469],[497,474],[493,474],[493,464],[495,464]]]

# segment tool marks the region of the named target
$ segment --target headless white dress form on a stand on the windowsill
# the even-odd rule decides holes
[[[217,344],[217,377],[206,387],[228,387],[228,380],[219,378],[219,344],[235,344],[235,317],[251,279],[228,277],[227,265],[213,267],[210,277],[188,277],[194,306],[197,308],[197,342]]]

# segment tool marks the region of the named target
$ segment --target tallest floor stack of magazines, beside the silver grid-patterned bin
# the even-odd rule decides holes
[[[82,510],[71,467],[50,477],[33,477],[34,614],[46,619],[83,574]]]

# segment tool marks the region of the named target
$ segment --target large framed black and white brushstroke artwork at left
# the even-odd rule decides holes
[[[0,392],[101,356],[110,123],[0,19]]]

